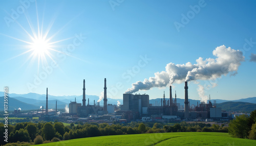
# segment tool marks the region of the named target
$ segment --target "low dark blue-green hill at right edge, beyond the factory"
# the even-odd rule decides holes
[[[225,102],[217,104],[217,107],[221,107],[225,111],[247,111],[251,112],[256,109],[256,104],[244,103],[244,102]]]

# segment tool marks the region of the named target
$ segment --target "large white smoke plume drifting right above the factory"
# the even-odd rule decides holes
[[[153,87],[166,87],[184,81],[216,80],[229,73],[230,75],[236,75],[238,67],[244,61],[241,51],[233,50],[225,45],[216,47],[212,54],[216,56],[215,59],[206,58],[203,60],[202,57],[199,57],[196,60],[197,64],[190,62],[186,64],[168,63],[165,66],[165,71],[156,72],[155,77],[144,79],[143,82],[133,83],[132,88],[127,89],[125,93],[149,90]]]

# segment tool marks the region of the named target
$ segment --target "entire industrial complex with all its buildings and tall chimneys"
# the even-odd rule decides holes
[[[119,122],[129,122],[132,120],[142,121],[171,121],[171,120],[228,120],[231,116],[229,113],[222,112],[221,108],[217,108],[216,102],[212,104],[209,97],[209,102],[197,103],[190,106],[188,101],[188,86],[185,82],[184,90],[184,106],[177,103],[176,91],[175,96],[172,95],[172,86],[169,86],[169,97],[163,93],[161,104],[150,104],[150,95],[147,94],[123,94],[123,104],[120,106],[108,104],[106,94],[106,79],[104,79],[104,94],[103,106],[99,102],[89,104],[86,100],[86,81],[83,80],[83,94],[81,103],[77,103],[77,99],[70,101],[69,110],[66,112],[58,112],[57,101],[56,109],[48,109],[48,88],[46,89],[46,108],[40,108],[33,112],[30,116],[39,116],[40,120],[63,120],[63,121],[109,121],[115,120]],[[184,108],[181,108],[184,107]],[[14,111],[18,116],[26,116]]]

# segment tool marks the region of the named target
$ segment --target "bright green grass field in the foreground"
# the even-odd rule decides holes
[[[79,138],[39,145],[255,145],[255,140],[228,133],[176,132]]]

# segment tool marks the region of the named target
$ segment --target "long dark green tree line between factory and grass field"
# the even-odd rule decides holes
[[[0,124],[0,132],[5,130]],[[210,125],[203,123],[188,124],[181,122],[175,125],[164,125],[162,123],[129,123],[112,124],[107,123],[84,123],[75,126],[64,126],[61,122],[31,123],[23,122],[15,125],[8,125],[9,143],[4,143],[1,137],[1,144],[6,145],[31,145],[60,140],[69,140],[84,137],[141,134],[141,133],[164,133],[164,132],[227,132],[227,127],[223,125]]]

